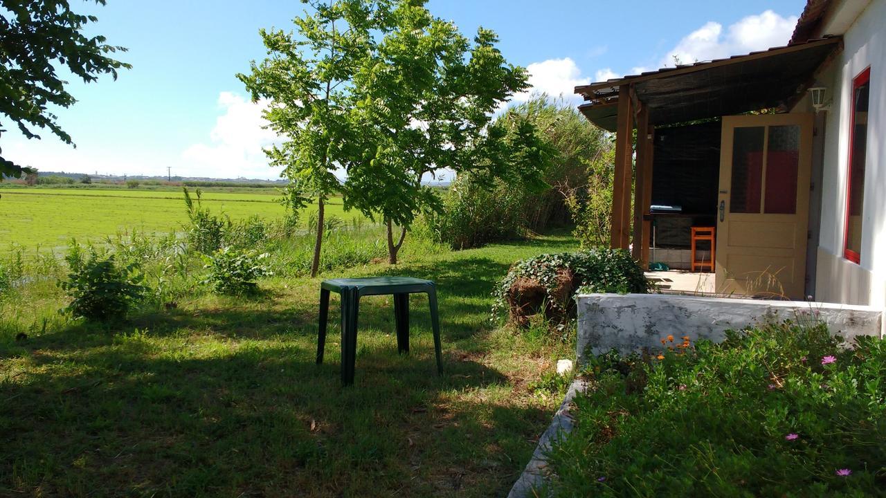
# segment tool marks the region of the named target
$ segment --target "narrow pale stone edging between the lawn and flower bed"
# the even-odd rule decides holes
[[[569,391],[566,392],[566,397],[563,398],[563,403],[560,404],[560,409],[556,410],[551,424],[548,425],[548,430],[541,434],[539,444],[532,453],[532,459],[529,463],[526,463],[526,468],[520,474],[520,479],[517,479],[514,486],[510,488],[508,498],[532,498],[538,496],[538,494],[534,493],[534,490],[548,482],[546,471],[548,459],[546,454],[557,440],[572,431],[572,416],[570,414],[572,400],[579,393],[584,393],[586,388],[586,381],[581,379],[572,381]]]

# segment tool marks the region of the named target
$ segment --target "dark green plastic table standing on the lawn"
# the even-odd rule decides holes
[[[408,276],[372,276],[369,278],[333,278],[320,284],[320,331],[317,337],[317,364],[323,363],[326,344],[326,320],[329,316],[330,292],[341,296],[341,383],[354,384],[354,360],[357,355],[357,313],[362,296],[393,296],[393,315],[397,323],[397,351],[409,351],[409,294],[424,292],[431,307],[431,328],[434,331],[434,353],[437,373],[443,375],[440,358],[440,324],[437,315],[437,287],[430,280]]]

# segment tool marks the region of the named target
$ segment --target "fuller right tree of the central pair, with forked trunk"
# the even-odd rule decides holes
[[[380,214],[392,264],[416,215],[440,208],[424,178],[478,171],[543,184],[546,150],[532,123],[490,126],[501,104],[528,87],[525,69],[506,62],[494,32],[481,27],[471,42],[424,4],[396,5],[390,31],[357,61],[352,89],[353,138],[361,157],[347,167],[345,206]],[[394,224],[400,226],[397,242]]]

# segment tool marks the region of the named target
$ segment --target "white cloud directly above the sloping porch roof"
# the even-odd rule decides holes
[[[796,16],[781,17],[773,11],[741,19],[725,34],[723,25],[711,21],[680,40],[661,64],[673,66],[674,56],[682,64],[691,64],[781,46],[788,43],[796,25]]]

